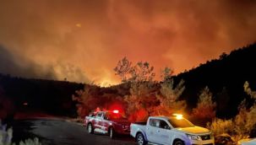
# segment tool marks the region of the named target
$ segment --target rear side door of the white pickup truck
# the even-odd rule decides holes
[[[148,125],[146,126],[146,135],[150,142],[157,142],[156,130],[158,127],[156,125],[159,121],[160,120],[158,119],[150,118],[150,122],[148,122]]]

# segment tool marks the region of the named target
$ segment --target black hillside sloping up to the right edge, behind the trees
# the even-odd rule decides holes
[[[245,81],[256,90],[256,44],[223,54],[218,60],[206,62],[186,73],[180,73],[176,79],[184,79],[186,89],[182,99],[186,99],[188,108],[196,105],[199,90],[206,85],[217,101],[217,115],[230,117],[237,113],[242,99],[249,98],[243,91]]]

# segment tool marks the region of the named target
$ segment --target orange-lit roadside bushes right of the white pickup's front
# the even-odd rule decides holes
[[[244,83],[243,88],[250,98],[242,100],[235,117],[229,120],[215,117],[207,123],[217,142],[236,144],[241,139],[256,137],[256,92],[250,89],[248,82]]]

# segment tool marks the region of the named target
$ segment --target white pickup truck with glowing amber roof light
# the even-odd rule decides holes
[[[150,143],[168,145],[214,145],[211,132],[194,126],[182,115],[151,116],[147,123],[132,123],[130,134],[139,145]]]

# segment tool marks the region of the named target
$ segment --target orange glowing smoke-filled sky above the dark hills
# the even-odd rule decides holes
[[[181,73],[255,41],[255,9],[253,0],[0,0],[0,72],[118,83],[113,68],[127,56]]]

